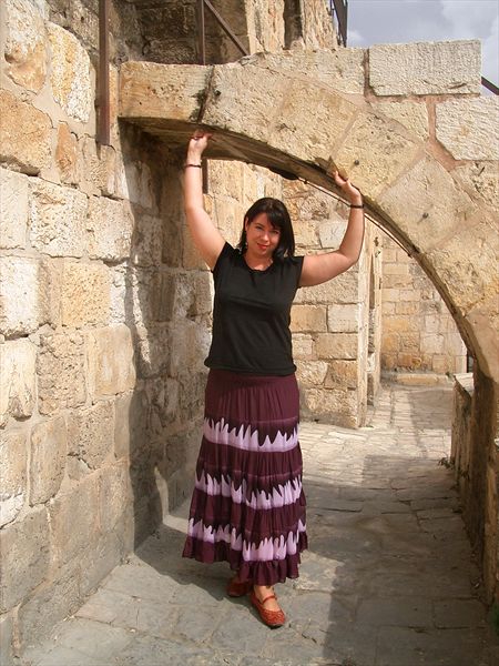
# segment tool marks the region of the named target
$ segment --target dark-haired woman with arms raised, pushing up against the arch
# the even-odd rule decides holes
[[[184,165],[187,224],[213,272],[215,300],[183,556],[228,562],[236,572],[228,595],[251,593],[263,622],[278,627],[285,616],[273,586],[298,576],[299,554],[307,547],[289,310],[298,286],[326,282],[358,260],[364,206],[360,192],[335,172],[350,201],[338,250],[294,256],[289,214],[269,198],[247,211],[234,249],[203,206],[201,160],[210,138],[197,132],[191,139]]]

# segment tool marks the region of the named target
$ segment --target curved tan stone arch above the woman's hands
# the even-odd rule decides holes
[[[348,174],[369,213],[430,276],[482,372],[499,382],[493,202],[456,176],[467,161],[456,161],[431,128],[421,140],[364,94],[338,92],[310,62],[303,51],[214,67],[128,62],[119,115],[179,148],[193,125],[210,128],[216,143],[208,157],[291,172],[328,190],[333,169]]]

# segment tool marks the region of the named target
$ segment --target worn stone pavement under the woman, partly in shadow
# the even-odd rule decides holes
[[[23,666],[497,666],[452,473],[449,387],[385,386],[357,431],[304,423],[309,551],[271,630],[180,556],[187,506]]]

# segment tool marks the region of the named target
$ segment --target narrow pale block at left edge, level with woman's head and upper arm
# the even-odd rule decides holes
[[[26,248],[28,178],[0,169],[0,249]]]

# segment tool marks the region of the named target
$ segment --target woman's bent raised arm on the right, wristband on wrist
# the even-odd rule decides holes
[[[305,256],[299,286],[314,286],[327,282],[353,266],[360,255],[364,240],[364,204],[360,192],[350,181],[343,179],[337,171],[336,184],[350,202],[350,214],[343,241],[334,252],[308,254]]]

